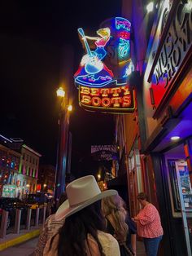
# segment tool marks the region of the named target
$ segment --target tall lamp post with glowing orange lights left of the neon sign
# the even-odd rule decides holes
[[[56,91],[60,99],[59,105],[59,135],[57,145],[57,165],[55,173],[55,201],[58,205],[59,198],[65,190],[65,176],[68,159],[68,126],[69,112],[72,111],[72,105],[66,104],[65,91],[63,87],[59,87]]]

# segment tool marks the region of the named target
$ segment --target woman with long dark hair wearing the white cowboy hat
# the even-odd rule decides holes
[[[92,175],[69,183],[68,200],[55,214],[57,221],[65,219],[59,233],[46,243],[46,256],[120,256],[116,239],[105,232],[101,200],[116,195],[116,190],[101,192]]]

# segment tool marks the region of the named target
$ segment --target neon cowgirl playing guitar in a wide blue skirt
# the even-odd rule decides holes
[[[113,82],[113,73],[102,62],[107,55],[104,46],[110,39],[110,29],[98,29],[97,34],[100,38],[87,37],[83,29],[78,29],[84,43],[87,54],[83,56],[80,68],[76,71],[74,77],[76,84],[82,86],[103,87]],[[90,51],[86,38],[95,40],[96,50]]]

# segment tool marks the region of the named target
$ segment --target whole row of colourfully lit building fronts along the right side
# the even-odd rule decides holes
[[[132,15],[142,79],[135,90],[137,112],[116,117],[116,141],[127,170],[129,214],[135,216],[139,210],[137,193],[146,192],[164,227],[159,255],[191,255],[192,2],[156,2],[151,13],[145,13],[137,1],[123,3],[124,15]],[[151,29],[145,24],[150,18]]]

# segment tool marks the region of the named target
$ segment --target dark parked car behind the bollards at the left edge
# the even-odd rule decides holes
[[[7,227],[14,225],[16,209],[22,210],[20,223],[26,223],[28,205],[19,198],[0,197],[0,222],[2,220],[2,210],[7,210],[9,212]]]

